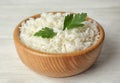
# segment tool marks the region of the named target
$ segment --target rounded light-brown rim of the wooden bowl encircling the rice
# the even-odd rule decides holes
[[[67,13],[67,12],[46,12],[46,13],[53,13],[53,14],[56,14],[56,13]],[[71,13],[71,12],[69,12]],[[36,14],[36,15],[33,15],[33,16],[30,16],[24,20],[22,20],[15,28],[14,30],[14,34],[13,34],[13,38],[14,38],[14,42],[15,44],[19,44],[19,46],[23,47],[26,51],[32,53],[32,54],[35,54],[35,55],[38,55],[38,56],[47,56],[47,57],[66,57],[66,56],[80,56],[80,55],[84,55],[84,54],[87,54],[93,50],[95,50],[97,47],[99,47],[102,42],[104,41],[104,38],[105,38],[105,32],[104,32],[104,29],[103,27],[97,22],[95,21],[94,19],[92,18],[88,18],[88,19],[91,19],[91,20],[94,20],[96,23],[97,23],[97,28],[100,32],[100,38],[99,40],[92,46],[86,48],[86,49],[83,49],[83,50],[78,50],[78,51],[73,51],[73,52],[68,52],[68,53],[49,53],[49,52],[42,52],[42,51],[38,51],[38,50],[35,50],[35,49],[32,49],[28,46],[26,46],[24,43],[21,42],[20,40],[20,29],[19,27],[21,26],[21,24],[23,22],[26,22],[29,18],[38,18],[40,17],[40,14]]]

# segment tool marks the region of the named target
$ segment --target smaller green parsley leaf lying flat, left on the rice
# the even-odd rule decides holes
[[[57,33],[53,31],[53,29],[45,27],[39,30],[34,34],[34,36],[41,36],[42,38],[53,38]]]

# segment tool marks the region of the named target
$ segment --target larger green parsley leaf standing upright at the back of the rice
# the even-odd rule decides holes
[[[78,13],[78,14],[69,14],[65,16],[64,19],[64,28],[63,30],[67,29],[73,29],[76,27],[83,27],[84,24],[82,22],[85,21],[85,18],[87,17],[87,13]]]

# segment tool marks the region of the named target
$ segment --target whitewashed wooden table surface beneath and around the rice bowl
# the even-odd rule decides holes
[[[24,18],[46,11],[87,12],[105,29],[101,56],[88,71],[51,78],[19,59],[13,30]],[[0,83],[120,83],[120,0],[0,0]]]

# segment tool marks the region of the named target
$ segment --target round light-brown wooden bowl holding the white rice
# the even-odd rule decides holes
[[[38,18],[40,17],[40,14],[31,17]],[[28,18],[22,22],[26,20],[28,20]],[[99,23],[98,29],[100,32],[100,38],[95,45],[82,51],[55,54],[36,51],[25,46],[19,37],[19,27],[21,26],[22,22],[20,22],[14,30],[14,42],[16,50],[22,62],[35,72],[51,77],[72,76],[86,71],[90,66],[92,66],[92,64],[100,55],[105,34],[102,26]]]

